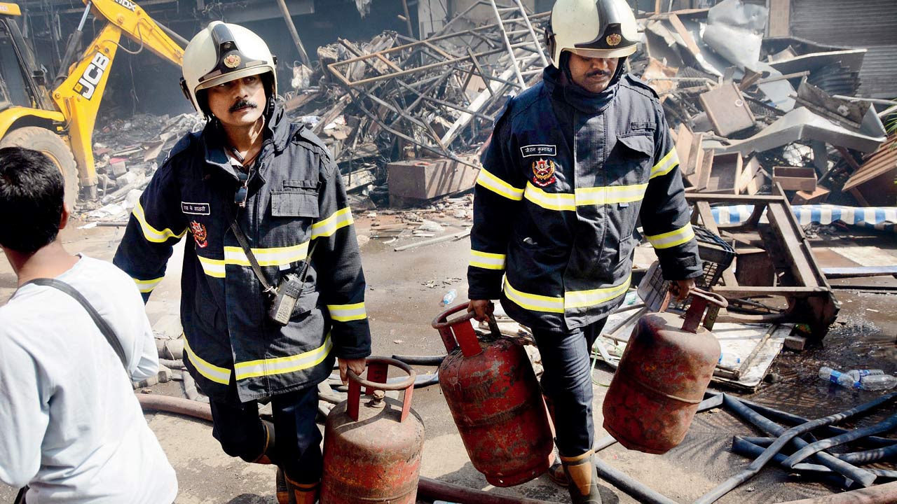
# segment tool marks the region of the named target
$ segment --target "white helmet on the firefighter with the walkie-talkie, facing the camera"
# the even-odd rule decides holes
[[[277,58],[271,55],[265,40],[251,30],[238,24],[213,21],[205,30],[196,33],[184,49],[181,91],[194,109],[208,115],[207,105],[196,100],[196,91],[270,72],[274,96],[277,94],[276,64]]]

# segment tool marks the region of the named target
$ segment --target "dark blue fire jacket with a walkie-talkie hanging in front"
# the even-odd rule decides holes
[[[370,355],[364,274],[339,169],[315,135],[282,117],[276,110],[266,126],[243,209],[234,204],[241,184],[222,132],[210,123],[185,136],[144,190],[114,260],[147,299],[172,246],[190,232],[180,300],[185,364],[218,401],[316,385],[335,357]],[[298,274],[317,243],[286,326],[266,318],[263,287],[230,227],[234,213],[268,282]]]

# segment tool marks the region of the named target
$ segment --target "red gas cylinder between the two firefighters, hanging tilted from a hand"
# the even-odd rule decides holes
[[[440,364],[440,387],[467,455],[486,481],[506,487],[528,482],[553,461],[553,440],[536,373],[527,352],[498,332],[477,340],[473,313],[450,308],[433,321],[448,356]]]

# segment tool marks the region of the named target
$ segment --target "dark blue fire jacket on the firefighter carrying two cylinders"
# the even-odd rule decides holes
[[[667,279],[701,275],[657,94],[629,74],[597,95],[560,81],[549,66],[496,121],[467,270],[470,299],[501,299],[519,323],[548,330],[587,326],[620,305],[639,217]]]

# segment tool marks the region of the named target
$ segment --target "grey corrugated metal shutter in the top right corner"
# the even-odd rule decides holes
[[[792,0],[791,14],[796,37],[868,49],[859,96],[897,96],[897,1]]]

